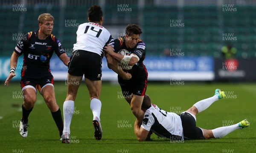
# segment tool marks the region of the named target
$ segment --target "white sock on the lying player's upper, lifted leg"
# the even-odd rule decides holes
[[[198,101],[193,106],[195,106],[198,109],[198,113],[200,113],[200,112],[206,110],[215,101],[218,101],[218,95],[214,95],[210,98]]]

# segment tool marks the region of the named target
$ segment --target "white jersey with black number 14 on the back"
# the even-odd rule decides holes
[[[107,29],[92,22],[80,24],[76,35],[73,51],[80,49],[99,55],[102,55],[103,47],[107,44],[112,45],[114,40]]]

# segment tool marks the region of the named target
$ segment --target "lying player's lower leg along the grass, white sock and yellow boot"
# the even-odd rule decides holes
[[[213,130],[205,130],[205,129],[202,129],[202,130],[203,130],[205,139],[211,139],[211,138],[219,139],[233,132],[234,130],[243,129],[249,126],[250,126],[250,122],[247,121],[247,119],[244,119],[243,121],[240,121],[239,123],[234,125],[230,125],[226,127],[218,127]]]

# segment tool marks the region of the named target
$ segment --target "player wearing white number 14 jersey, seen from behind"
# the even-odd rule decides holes
[[[113,38],[102,26],[103,13],[100,6],[91,6],[88,10],[89,23],[79,25],[76,32],[76,44],[70,58],[67,75],[67,97],[63,104],[64,129],[62,143],[70,143],[70,124],[74,112],[79,85],[84,81],[89,91],[90,109],[93,113],[94,137],[102,138],[100,124],[101,101],[99,100],[102,86],[103,47],[112,45]],[[125,72],[123,72],[125,73]]]

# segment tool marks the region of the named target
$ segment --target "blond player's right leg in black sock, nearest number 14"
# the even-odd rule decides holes
[[[41,95],[44,97],[44,101],[52,113],[52,118],[58,127],[59,136],[62,136],[63,132],[63,120],[61,116],[61,109],[58,107],[55,99],[53,84],[46,84],[41,89]]]

